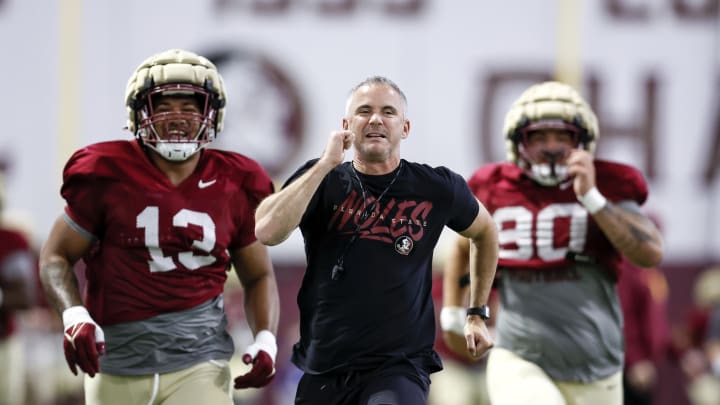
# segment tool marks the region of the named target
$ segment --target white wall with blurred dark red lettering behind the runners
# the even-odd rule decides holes
[[[374,74],[409,98],[404,157],[469,176],[504,158],[509,103],[565,61],[600,117],[598,155],[648,176],[666,261],[720,259],[719,3],[0,0],[6,215],[42,242],[63,207],[69,153],[131,137],[125,84],[166,48],[219,58],[229,104],[218,146],[260,160],[278,182],[319,156],[349,88]],[[559,34],[563,11],[575,13],[572,35]],[[298,235],[273,250],[303,258]]]

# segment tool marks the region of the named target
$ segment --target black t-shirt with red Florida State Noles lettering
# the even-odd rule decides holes
[[[285,186],[316,162],[308,161]],[[293,363],[321,374],[401,357],[440,370],[432,348],[433,249],[446,225],[463,231],[478,210],[465,180],[445,167],[402,160],[380,176],[355,172],[350,162],[333,169],[300,222],[307,270],[297,298],[300,341]],[[341,257],[343,275],[334,280]]]

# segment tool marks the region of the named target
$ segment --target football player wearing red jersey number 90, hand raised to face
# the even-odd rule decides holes
[[[619,265],[625,256],[652,267],[663,254],[660,232],[640,210],[645,179],[633,167],[593,158],[597,119],[563,83],[523,92],[504,135],[508,162],[482,166],[468,181],[499,229],[501,311],[488,359],[490,400],[620,404]],[[457,280],[467,273],[466,251],[467,241],[459,240],[445,271],[443,329],[455,334],[465,318]]]

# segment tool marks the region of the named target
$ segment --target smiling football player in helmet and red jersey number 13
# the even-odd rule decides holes
[[[272,182],[255,161],[206,148],[226,102],[208,59],[179,49],[149,57],[125,102],[135,139],[69,159],[66,207],[41,251],[68,366],[86,373],[87,404],[232,404],[222,295],[231,265],[255,336],[243,356],[252,369],[234,386],[261,387],[275,373],[277,284],[253,217]]]

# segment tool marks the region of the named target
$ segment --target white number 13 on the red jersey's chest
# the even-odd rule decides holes
[[[160,210],[158,207],[146,207],[137,216],[137,227],[145,229],[145,246],[150,251],[151,272],[175,270],[177,266],[172,256],[165,256],[160,249],[159,227],[160,227]],[[208,255],[196,255],[193,252],[178,253],[177,260],[188,270],[195,270],[203,266],[207,266],[215,262],[216,258],[210,256],[209,253],[215,247],[215,223],[210,215],[204,212],[191,211],[181,209],[173,216],[173,226],[187,228],[193,224],[202,228],[202,240],[193,241],[193,247]]]

